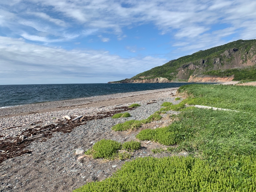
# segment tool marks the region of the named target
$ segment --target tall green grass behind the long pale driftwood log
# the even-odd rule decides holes
[[[256,113],[256,87],[214,84],[191,84],[178,89],[179,93],[190,95],[180,105],[205,105]]]

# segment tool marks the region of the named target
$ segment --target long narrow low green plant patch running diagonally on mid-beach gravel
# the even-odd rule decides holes
[[[124,123],[119,123],[116,124],[112,127],[112,130],[115,131],[126,131],[128,129],[137,129],[139,128],[142,124],[146,124],[146,123],[150,123],[152,121],[158,121],[162,118],[162,116],[160,115],[160,111],[156,111],[154,114],[152,114],[151,116],[149,116],[147,119],[143,119],[143,120],[130,120],[130,121],[126,121]]]

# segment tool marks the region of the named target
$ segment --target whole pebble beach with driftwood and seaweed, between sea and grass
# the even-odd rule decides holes
[[[53,101],[0,109],[0,191],[72,191],[87,182],[110,177],[126,161],[154,154],[164,146],[141,142],[131,159],[102,161],[83,156],[101,139],[136,140],[140,130],[115,132],[111,127],[128,120],[146,119],[165,101],[173,104],[178,88],[128,92],[73,100]],[[138,103],[138,108],[128,108]],[[112,119],[117,112],[131,117]],[[168,111],[160,121],[141,129],[166,126]],[[70,117],[70,120],[63,118]],[[79,117],[78,119],[75,119]],[[75,119],[75,120],[74,120]],[[185,155],[186,154],[178,154]]]

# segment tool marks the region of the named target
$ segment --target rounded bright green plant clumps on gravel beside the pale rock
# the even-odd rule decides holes
[[[102,139],[96,142],[92,149],[85,152],[85,155],[91,155],[93,158],[104,158],[109,160],[114,159],[127,159],[131,155],[126,152],[120,152],[118,150],[124,149],[126,151],[133,152],[140,148],[140,142],[138,141],[127,141],[121,144],[114,140]]]

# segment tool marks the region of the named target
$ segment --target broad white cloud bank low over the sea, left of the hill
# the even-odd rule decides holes
[[[104,83],[131,77],[167,62],[154,57],[122,58],[107,51],[65,50],[0,37],[0,84]]]

